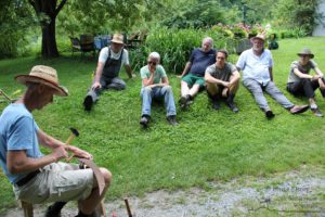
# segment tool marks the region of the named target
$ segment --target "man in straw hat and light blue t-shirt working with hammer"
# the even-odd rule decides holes
[[[18,75],[15,79],[27,89],[0,116],[0,165],[13,184],[15,197],[32,204],[56,202],[46,214],[52,217],[61,216],[66,202],[78,201],[78,216],[94,216],[104,193],[99,195],[93,171],[79,169],[75,164],[57,163],[67,157],[68,152],[80,158],[91,158],[91,154],[43,132],[31,114],[51,103],[54,94],[68,94],[58,85],[56,71],[37,65],[29,75]],[[51,153],[43,155],[39,144],[50,149]],[[105,192],[112,175],[105,168],[100,171],[105,180]]]

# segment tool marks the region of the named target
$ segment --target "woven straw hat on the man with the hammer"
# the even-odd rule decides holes
[[[56,95],[68,95],[68,90],[58,84],[56,71],[46,65],[36,65],[31,68],[29,75],[17,75],[15,80],[23,85],[27,82],[42,84],[53,88],[55,90],[54,94]]]

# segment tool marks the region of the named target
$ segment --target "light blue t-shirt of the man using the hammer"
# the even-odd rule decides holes
[[[25,150],[28,157],[42,156],[39,150],[38,126],[24,104],[10,104],[0,116],[0,165],[11,183],[17,182],[26,174],[10,174],[6,168],[6,152]]]

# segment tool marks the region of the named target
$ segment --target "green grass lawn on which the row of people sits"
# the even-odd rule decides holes
[[[315,61],[325,73],[325,38],[287,39],[280,41],[280,50],[272,51],[274,79],[284,93],[297,104],[285,85],[291,61],[303,47],[315,53]],[[237,56],[231,56],[236,61]],[[80,136],[72,143],[94,155],[98,165],[109,168],[114,179],[107,201],[128,195],[142,195],[158,189],[208,188],[207,181],[226,181],[245,175],[268,176],[276,171],[298,168],[302,164],[323,166],[325,163],[324,118],[310,111],[291,115],[268,97],[275,118],[268,120],[252,95],[240,87],[236,95],[238,114],[224,104],[212,111],[206,93],[200,93],[190,111],[178,111],[179,126],[167,124],[165,108],[153,106],[153,122],[148,130],[140,125],[141,79],[127,80],[127,90],[106,91],[91,113],[83,112],[82,100],[91,82],[96,60],[80,61],[69,53],[55,60],[24,58],[0,61],[0,88],[12,93],[23,89],[13,77],[28,73],[32,65],[53,66],[70,97],[55,98],[43,111],[34,113],[46,132],[65,141],[69,127]],[[180,95],[180,79],[170,73],[176,100]],[[318,106],[325,112],[325,102],[316,92]],[[0,103],[0,111],[6,103]],[[0,210],[15,206],[12,188],[0,173]]]

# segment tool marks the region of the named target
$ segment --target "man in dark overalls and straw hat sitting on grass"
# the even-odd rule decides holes
[[[125,66],[129,78],[134,76],[129,63],[129,53],[123,49],[123,36],[114,34],[110,46],[101,50],[92,86],[83,100],[86,111],[91,111],[102,90],[126,89],[126,82],[118,77],[121,65]]]

